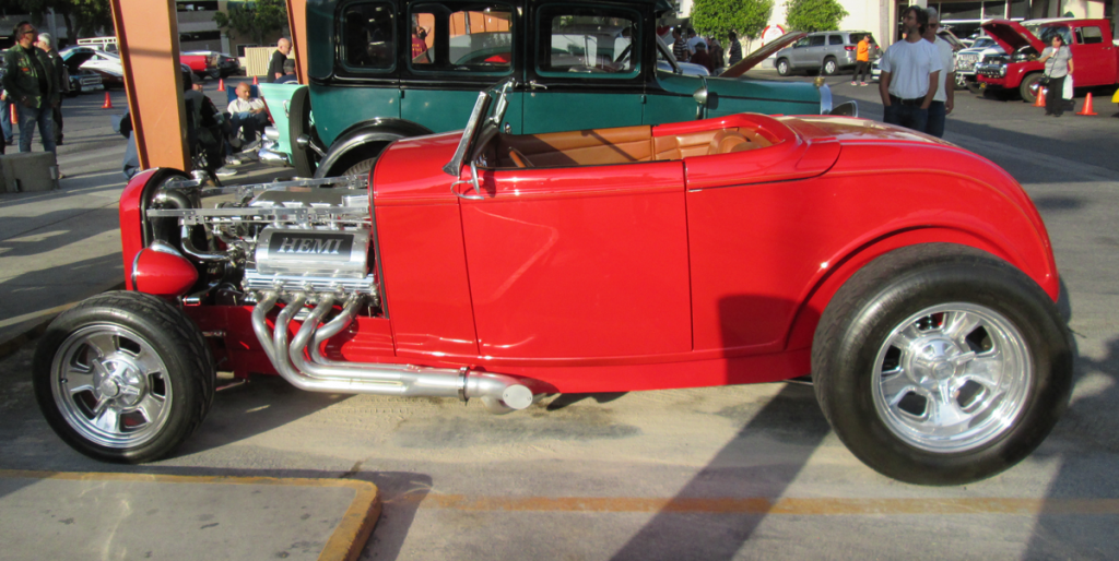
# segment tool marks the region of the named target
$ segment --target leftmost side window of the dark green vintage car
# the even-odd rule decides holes
[[[349,69],[391,70],[396,59],[393,6],[357,3],[341,13],[342,61]]]

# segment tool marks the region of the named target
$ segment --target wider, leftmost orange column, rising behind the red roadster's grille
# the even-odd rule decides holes
[[[190,170],[175,0],[110,0],[140,167]]]

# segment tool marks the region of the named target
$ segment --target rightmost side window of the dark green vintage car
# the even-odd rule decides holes
[[[540,10],[537,74],[631,78],[639,72],[640,17],[599,7],[553,4]],[[551,30],[551,35],[544,32]]]

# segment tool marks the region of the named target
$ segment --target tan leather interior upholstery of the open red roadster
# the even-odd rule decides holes
[[[502,134],[497,153],[502,168],[606,165],[727,154],[769,146],[752,130],[716,129],[696,133],[652,136],[650,126],[594,129],[546,134]],[[516,162],[511,154],[519,155]]]

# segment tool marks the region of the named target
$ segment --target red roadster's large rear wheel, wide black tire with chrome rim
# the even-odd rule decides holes
[[[956,329],[968,313],[976,323]],[[962,345],[941,361],[932,350],[950,349],[949,334]],[[817,399],[839,438],[873,469],[921,485],[976,482],[1029,455],[1068,405],[1072,364],[1068,327],[1033,279],[949,244],[899,249],[856,273],[812,342]]]

